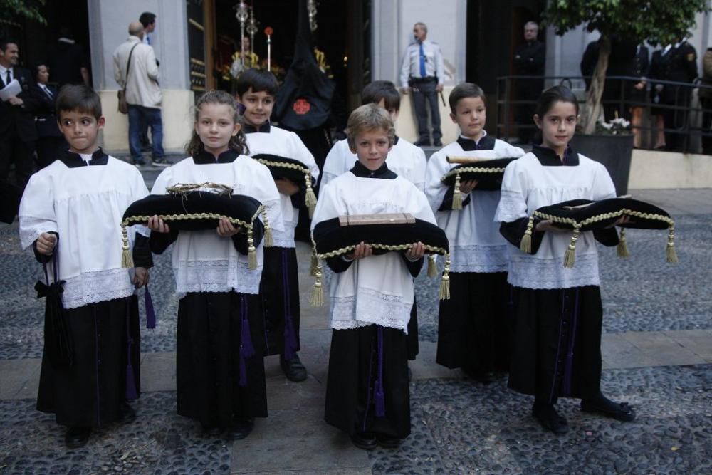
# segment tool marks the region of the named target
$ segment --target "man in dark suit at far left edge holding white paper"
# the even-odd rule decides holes
[[[23,188],[32,174],[32,155],[37,131],[31,113],[35,105],[29,92],[34,82],[31,73],[19,68],[19,48],[16,41],[0,39],[0,85],[5,88],[17,80],[21,92],[8,100],[0,100],[0,179],[7,179],[11,163],[15,164],[15,181]]]

